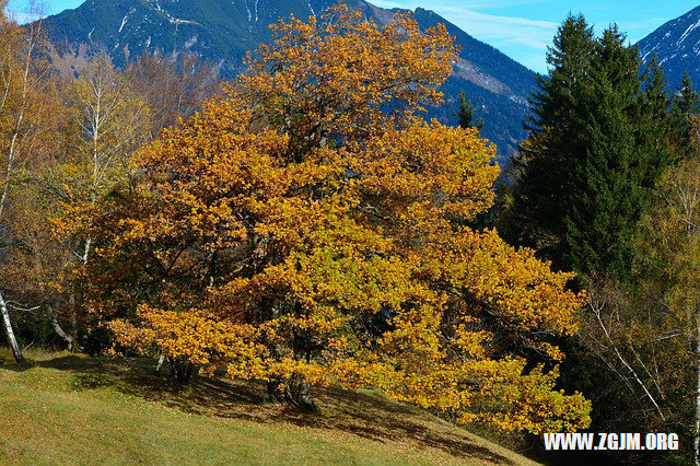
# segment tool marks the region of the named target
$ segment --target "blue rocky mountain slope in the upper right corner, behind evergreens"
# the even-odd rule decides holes
[[[648,61],[657,55],[676,86],[687,70],[700,83],[700,7],[658,27],[639,42],[640,56]]]

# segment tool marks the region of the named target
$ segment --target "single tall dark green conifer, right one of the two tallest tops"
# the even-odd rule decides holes
[[[596,43],[586,85],[578,89],[572,133],[579,151],[571,161],[564,195],[565,263],[580,273],[604,271],[625,277],[630,238],[639,219],[645,163],[637,144],[635,116],[641,79],[637,48],[625,44],[617,26]]]

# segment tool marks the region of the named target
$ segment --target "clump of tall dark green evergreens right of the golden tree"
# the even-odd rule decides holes
[[[582,16],[549,50],[506,236],[558,268],[630,276],[634,224],[674,159],[666,75],[657,60],[640,75],[638,57],[617,26],[596,39]]]

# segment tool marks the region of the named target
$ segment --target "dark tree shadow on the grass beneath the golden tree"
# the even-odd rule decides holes
[[[21,365],[3,365],[2,369],[26,371],[35,366],[71,372],[73,388],[78,391],[112,387],[188,413],[260,423],[289,422],[349,432],[382,443],[418,444],[463,459],[513,464],[510,458],[475,443],[460,429],[424,411],[364,393],[315,388],[314,396],[320,412],[307,413],[268,403],[265,384],[259,382],[192,376],[190,385],[182,386],[166,374],[156,372],[154,361],[149,359],[66,356]]]

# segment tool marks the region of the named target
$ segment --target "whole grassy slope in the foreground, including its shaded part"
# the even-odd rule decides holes
[[[424,411],[319,391],[320,416],[265,403],[261,385],[177,389],[152,362],[0,354],[0,464],[528,464]]]

